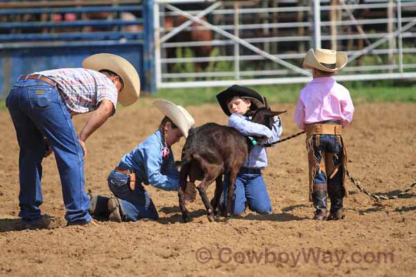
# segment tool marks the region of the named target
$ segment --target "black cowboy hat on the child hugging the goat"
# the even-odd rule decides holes
[[[250,106],[251,110],[256,110],[261,107],[264,107],[264,100],[257,91],[249,89],[248,87],[241,87],[238,84],[234,84],[231,87],[225,89],[225,91],[221,91],[216,96],[218,103],[221,106],[221,109],[223,109],[227,116],[231,116],[231,113],[228,109],[227,101],[234,98],[234,96],[250,99],[252,103],[252,105]]]

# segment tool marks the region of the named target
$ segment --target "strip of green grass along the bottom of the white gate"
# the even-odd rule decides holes
[[[362,102],[416,102],[416,84],[404,80],[379,80],[369,82],[341,82],[351,93],[354,103]],[[295,103],[304,84],[279,84],[250,86],[268,99],[270,104]],[[216,94],[225,87],[194,89],[161,89],[157,93],[141,96],[147,99],[166,99],[177,105],[216,103]],[[6,110],[0,100],[0,110]]]

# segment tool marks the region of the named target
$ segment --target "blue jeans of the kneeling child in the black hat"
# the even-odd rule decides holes
[[[225,175],[223,195],[221,195],[221,206],[225,211],[227,207],[228,175]],[[272,211],[272,204],[267,192],[261,172],[258,174],[242,173],[236,177],[234,185],[234,199],[232,199],[231,211],[233,215],[244,213],[245,204],[248,204],[250,211],[256,213],[269,213]]]

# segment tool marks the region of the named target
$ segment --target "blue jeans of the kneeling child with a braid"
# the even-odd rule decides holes
[[[108,176],[107,181],[111,192],[119,199],[123,221],[159,218],[150,195],[139,181],[136,182],[135,190],[131,190],[130,176],[114,170]]]

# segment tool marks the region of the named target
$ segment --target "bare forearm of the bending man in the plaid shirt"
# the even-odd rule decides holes
[[[89,116],[87,123],[85,123],[80,134],[78,134],[78,141],[84,151],[84,159],[87,157],[87,147],[85,146],[85,141],[95,132],[96,129],[101,127],[105,120],[109,118],[112,114],[113,104],[110,100],[104,99],[100,102],[98,109],[92,112]]]

